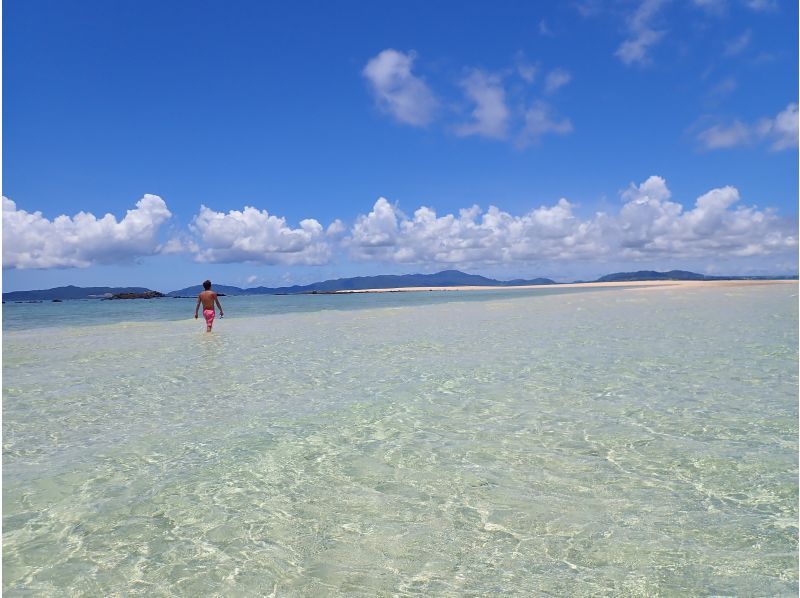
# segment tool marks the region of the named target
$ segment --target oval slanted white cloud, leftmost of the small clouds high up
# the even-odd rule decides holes
[[[433,119],[438,101],[425,81],[411,72],[416,54],[391,48],[370,59],[362,74],[381,110],[398,121],[425,126]]]

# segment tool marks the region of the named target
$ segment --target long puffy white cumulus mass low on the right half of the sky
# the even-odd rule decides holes
[[[407,216],[385,198],[359,216],[344,240],[362,260],[474,266],[535,261],[725,258],[796,251],[796,226],[769,210],[737,206],[734,187],[672,201],[661,177],[631,185],[616,215],[581,219],[562,198],[522,215],[495,206],[438,215],[423,206]]]

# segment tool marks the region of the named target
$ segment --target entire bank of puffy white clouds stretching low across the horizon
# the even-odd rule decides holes
[[[735,187],[703,193],[685,209],[666,181],[651,176],[621,193],[618,212],[575,214],[565,198],[524,214],[477,205],[438,215],[421,206],[410,215],[384,197],[348,227],[285,218],[245,206],[217,212],[201,206],[186,230],[159,242],[171,213],[145,195],[124,218],[80,212],[48,220],[3,198],[3,267],[85,268],[145,256],[186,253],[201,263],[324,265],[341,260],[383,264],[479,267],[534,262],[631,262],[796,254],[797,223],[770,209],[740,204]]]

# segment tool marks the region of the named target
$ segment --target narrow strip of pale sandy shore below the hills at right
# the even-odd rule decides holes
[[[627,290],[643,290],[654,288],[674,287],[720,287],[720,286],[753,286],[772,284],[798,284],[797,280],[631,280],[620,282],[566,282],[557,284],[538,284],[521,286],[454,286],[454,287],[394,287],[388,289],[352,289],[342,291],[327,291],[329,295],[350,295],[357,293],[419,293],[438,291],[512,291],[552,288],[608,288],[626,287]],[[633,288],[631,288],[633,287]],[[321,293],[318,293],[321,294]]]

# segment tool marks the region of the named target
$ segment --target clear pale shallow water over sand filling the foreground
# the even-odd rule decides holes
[[[3,594],[797,595],[797,285],[508,293],[6,327]]]

